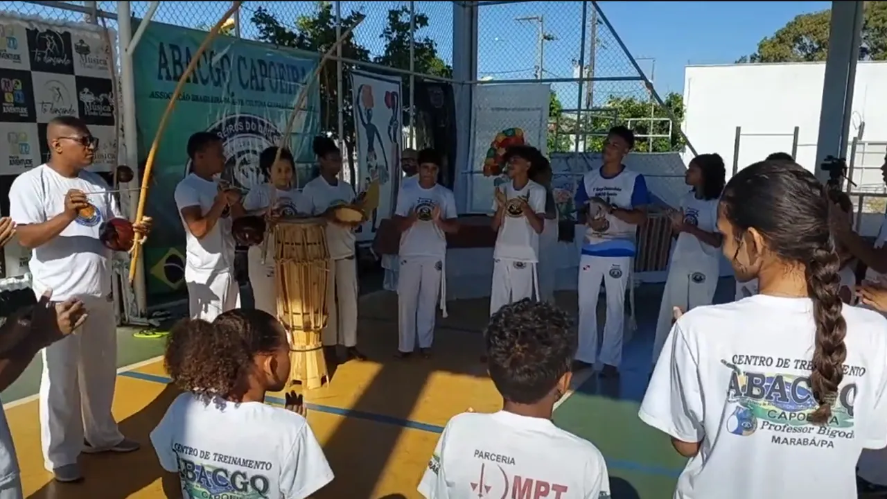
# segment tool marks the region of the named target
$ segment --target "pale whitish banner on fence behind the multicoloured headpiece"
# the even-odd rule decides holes
[[[505,182],[500,160],[507,147],[526,144],[547,153],[548,83],[497,83],[475,86],[472,103],[475,143],[468,210],[489,213],[493,188]],[[482,174],[483,170],[483,174]]]

